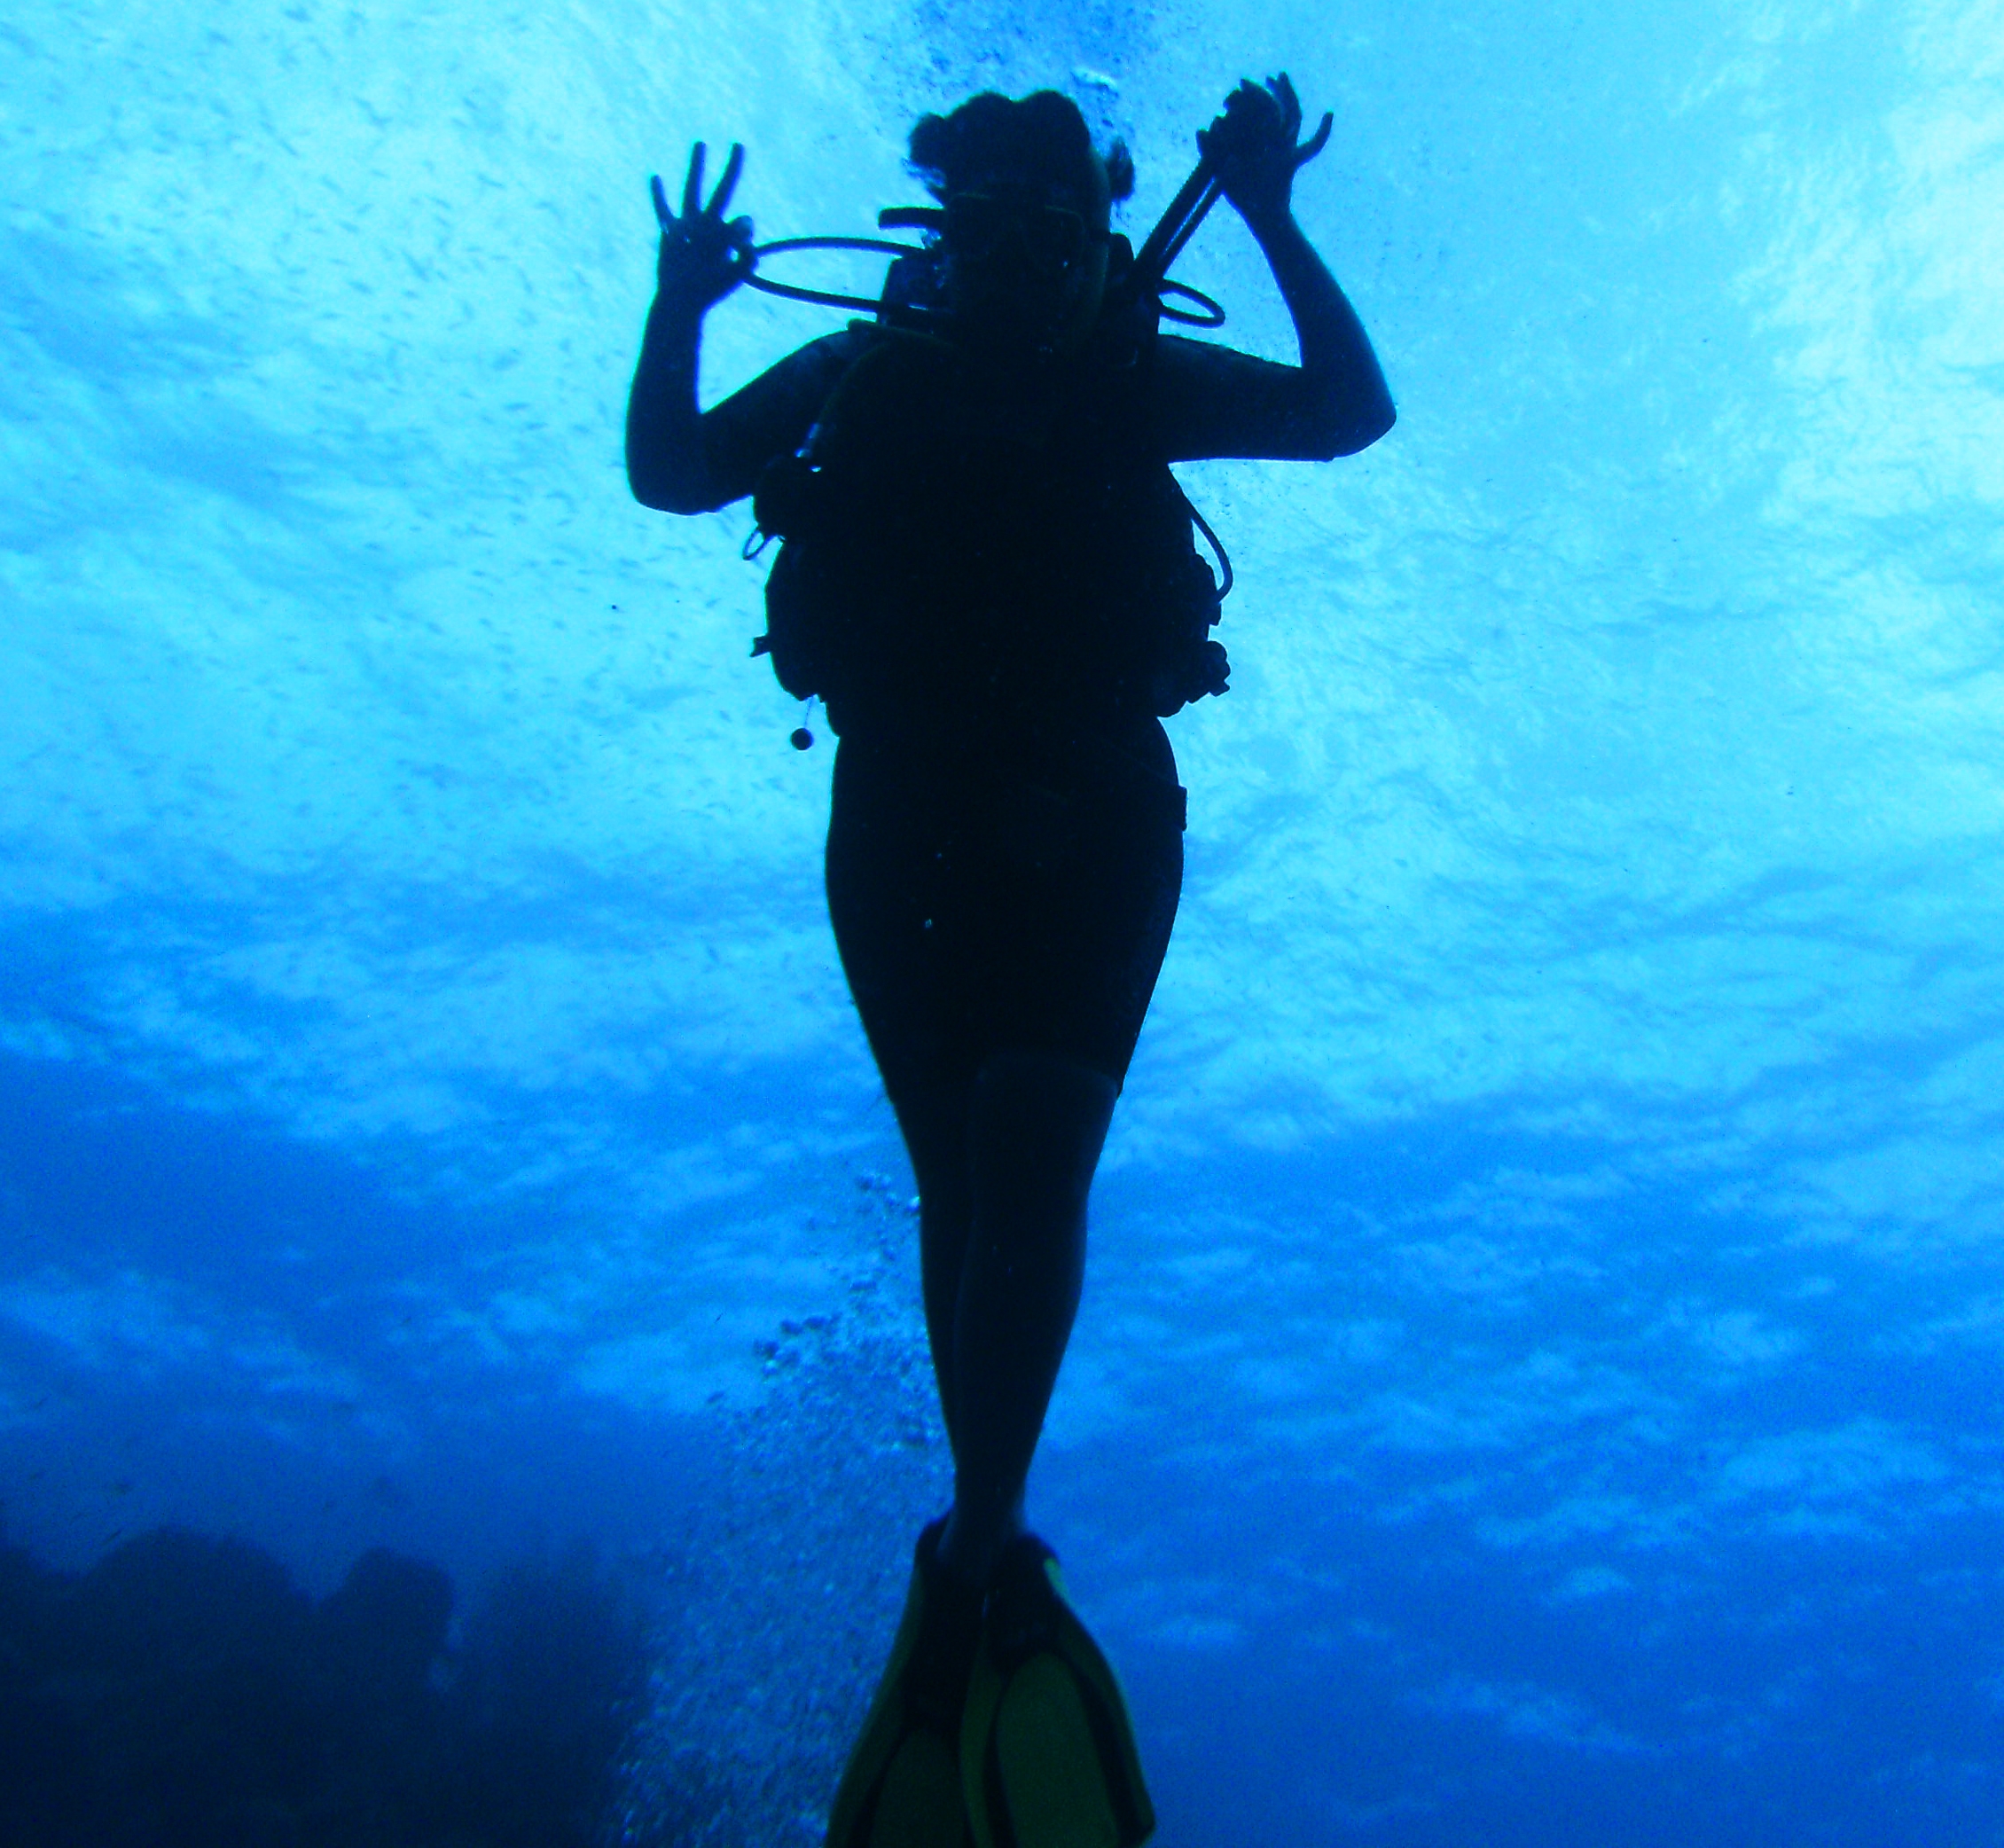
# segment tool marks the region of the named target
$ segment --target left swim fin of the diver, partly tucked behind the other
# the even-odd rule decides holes
[[[982,1593],[938,1567],[944,1519],[918,1535],[890,1662],[828,1818],[828,1848],[968,1848],[956,1742]]]

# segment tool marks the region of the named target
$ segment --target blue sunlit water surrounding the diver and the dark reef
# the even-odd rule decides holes
[[[1030,1485],[1158,1842],[2004,1842],[1998,0],[14,0],[16,1577],[589,1559],[603,1826],[818,1840],[948,1459],[832,752],[621,471],[647,174],[862,235],[1052,84],[1138,241],[1283,68],[1401,419],[1180,471],[1232,691]]]

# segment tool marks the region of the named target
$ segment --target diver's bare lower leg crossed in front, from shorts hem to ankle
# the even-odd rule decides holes
[[[1048,1052],[988,1060],[968,1112],[972,1233],[952,1345],[954,1513],[940,1561],[986,1581],[1022,1527],[1086,1265],[1086,1197],[1116,1086]],[[946,1369],[942,1369],[946,1373]]]

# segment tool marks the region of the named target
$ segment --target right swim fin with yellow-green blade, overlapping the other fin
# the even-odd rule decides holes
[[[974,1848],[1138,1848],[1154,1834],[1120,1684],[1034,1533],[1010,1541],[988,1591],[960,1782]]]

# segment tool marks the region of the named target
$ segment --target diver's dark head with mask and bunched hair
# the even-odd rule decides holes
[[[988,90],[918,122],[912,168],[946,206],[954,321],[988,347],[1082,347],[1106,293],[1112,202],[1134,190],[1126,148],[1102,156],[1056,90]]]

